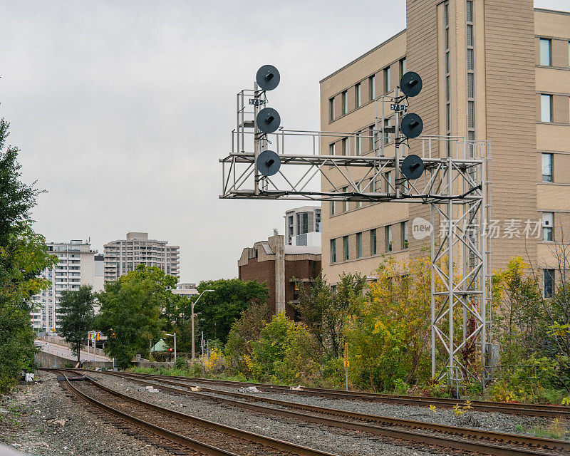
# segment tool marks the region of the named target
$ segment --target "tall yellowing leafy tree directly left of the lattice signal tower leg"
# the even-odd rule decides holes
[[[430,378],[430,259],[385,259],[346,325],[353,381],[388,390]]]

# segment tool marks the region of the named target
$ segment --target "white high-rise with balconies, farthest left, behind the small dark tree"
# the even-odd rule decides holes
[[[41,294],[32,296],[34,309],[31,312],[32,326],[36,331],[51,333],[58,330],[61,292],[78,290],[81,285],[93,286],[94,291],[103,289],[103,268],[95,263],[97,251],[91,249],[89,241],[48,242],[48,252],[58,257],[58,262],[43,271],[41,276],[51,282],[51,286]],[[102,259],[102,258],[101,258]]]

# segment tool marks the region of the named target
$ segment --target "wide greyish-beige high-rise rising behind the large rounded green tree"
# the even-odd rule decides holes
[[[105,281],[117,280],[139,264],[156,266],[171,276],[180,276],[180,247],[168,241],[148,239],[148,233],[130,232],[127,239],[105,244]]]

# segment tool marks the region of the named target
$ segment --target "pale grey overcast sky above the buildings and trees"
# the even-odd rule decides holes
[[[535,6],[570,9],[567,0]],[[356,7],[358,6],[358,7]],[[48,241],[147,231],[182,281],[237,275],[295,202],[218,199],[235,94],[271,63],[285,128],[318,130],[318,81],[405,27],[404,1],[0,1],[0,116]]]

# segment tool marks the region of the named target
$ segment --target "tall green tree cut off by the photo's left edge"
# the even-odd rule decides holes
[[[34,367],[35,334],[31,296],[48,286],[39,278],[55,257],[31,229],[30,211],[40,193],[21,182],[18,148],[6,147],[9,124],[0,119],[0,392],[16,383],[22,369]]]

